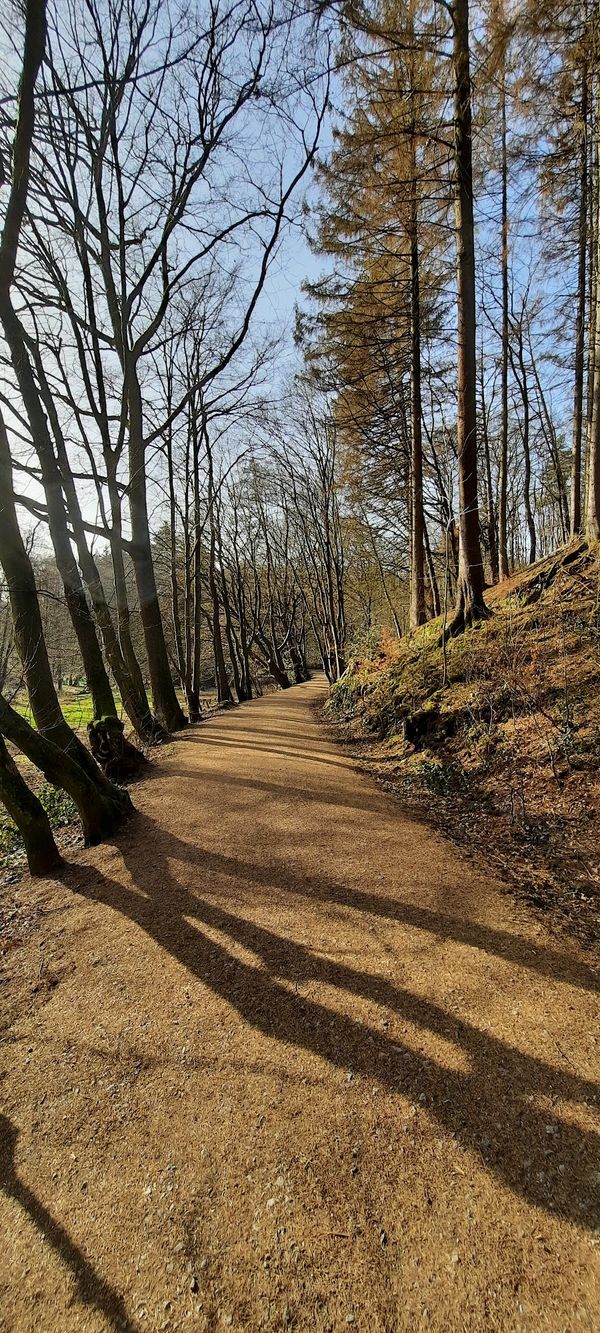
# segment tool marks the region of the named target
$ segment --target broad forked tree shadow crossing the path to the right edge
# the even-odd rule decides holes
[[[140,874],[140,846],[147,849],[147,874]],[[536,1097],[595,1102],[597,1084],[524,1054],[385,977],[323,958],[307,945],[211,901],[217,870],[241,882],[248,878],[256,882],[256,874],[248,876],[244,862],[204,853],[143,816],[137,816],[137,836],[123,842],[121,853],[133,889],[93,866],[68,869],[65,884],[135,921],[265,1037],[299,1046],[423,1105],[529,1204],[579,1226],[593,1228],[600,1222],[593,1198],[600,1136],[535,1105]],[[175,877],[173,860],[193,866],[193,872],[184,874],[196,881],[199,892]],[[276,872],[265,870],[260,882],[267,880],[277,888]],[[327,898],[327,886],[303,882],[308,896]],[[279,886],[283,892],[289,889],[284,865]],[[356,905],[353,894],[352,904]],[[257,965],[232,956],[203,926],[255,953]],[[473,922],[469,928],[480,929]],[[425,1058],[397,1037],[297,994],[293,988],[305,981],[381,1005],[453,1042],[468,1060],[468,1072]]]

